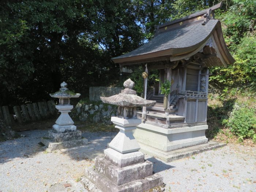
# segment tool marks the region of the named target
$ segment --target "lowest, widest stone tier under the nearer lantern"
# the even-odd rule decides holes
[[[93,168],[87,168],[85,176],[81,182],[86,189],[93,192],[143,192],[156,186],[163,185],[163,177],[154,174],[143,179],[128,182],[122,185],[116,185]]]

